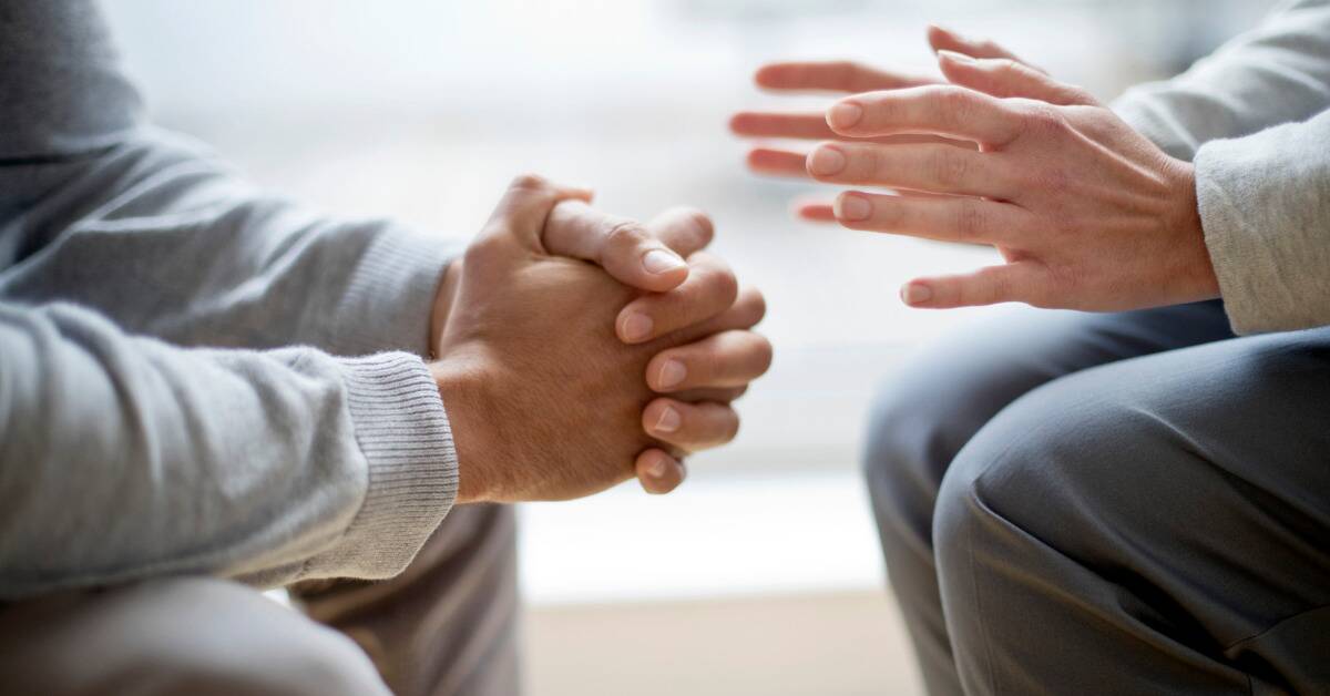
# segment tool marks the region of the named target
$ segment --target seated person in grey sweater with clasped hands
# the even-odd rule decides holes
[[[0,692],[517,693],[483,503],[669,491],[770,361],[700,213],[330,220],[148,125],[90,1],[0,0]]]

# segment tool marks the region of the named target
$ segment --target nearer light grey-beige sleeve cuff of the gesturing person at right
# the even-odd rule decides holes
[[[1196,182],[1233,330],[1330,325],[1330,110],[1208,142]]]

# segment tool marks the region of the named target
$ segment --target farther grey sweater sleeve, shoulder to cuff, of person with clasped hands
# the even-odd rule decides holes
[[[0,299],[186,346],[428,351],[458,245],[335,220],[150,126],[93,0],[0,3]]]

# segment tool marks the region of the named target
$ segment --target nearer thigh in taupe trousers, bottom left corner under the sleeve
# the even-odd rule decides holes
[[[254,590],[186,578],[0,608],[5,693],[384,695],[340,633]]]

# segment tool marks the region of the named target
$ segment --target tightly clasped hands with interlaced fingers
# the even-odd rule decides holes
[[[668,492],[684,454],[733,439],[729,403],[770,365],[770,345],[750,331],[762,297],[700,250],[704,216],[672,210],[644,226],[587,198],[517,177],[442,283],[431,369],[463,462],[462,503],[577,498],[634,474]],[[686,265],[644,266],[666,248]],[[629,314],[652,326],[625,341]],[[665,358],[680,362],[668,375],[685,374],[673,386],[648,370],[664,350],[681,351]]]

